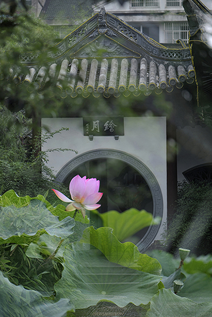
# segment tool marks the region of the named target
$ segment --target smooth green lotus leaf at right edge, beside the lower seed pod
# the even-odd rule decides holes
[[[197,303],[211,302],[212,278],[205,273],[189,275],[178,295],[188,297]]]

